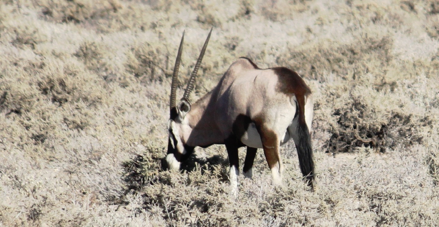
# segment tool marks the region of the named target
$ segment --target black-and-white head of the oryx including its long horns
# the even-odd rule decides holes
[[[181,37],[180,47],[178,48],[177,58],[175,60],[174,72],[172,75],[172,85],[171,85],[171,95],[169,101],[169,121],[168,121],[168,154],[166,156],[166,162],[168,163],[169,169],[178,170],[180,169],[180,163],[187,159],[189,155],[194,150],[194,147],[186,145],[185,136],[190,133],[190,126],[187,121],[187,113],[191,110],[191,103],[189,102],[189,94],[194,89],[195,77],[197,76],[198,68],[200,67],[201,61],[204,56],[204,52],[209,42],[210,34],[212,29],[210,29],[209,35],[204,42],[203,48],[201,50],[200,56],[198,57],[197,63],[194,66],[191,77],[187,82],[187,87],[184,90],[183,98],[176,105],[176,89],[178,84],[178,69],[180,67],[181,52],[183,49],[184,31]],[[187,139],[187,137],[186,137]]]

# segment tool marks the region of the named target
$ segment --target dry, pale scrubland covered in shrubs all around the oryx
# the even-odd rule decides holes
[[[438,225],[439,2],[0,4],[0,226]],[[236,198],[223,146],[163,170],[181,34],[183,88],[211,27],[191,100],[240,56],[299,72],[315,192],[293,142],[281,187],[259,150]]]

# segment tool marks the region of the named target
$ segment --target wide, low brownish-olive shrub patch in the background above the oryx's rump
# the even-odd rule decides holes
[[[351,44],[327,43],[291,50],[280,55],[278,64],[318,80],[328,72],[352,80],[365,73],[384,73],[385,66],[392,60],[391,46],[389,37],[358,37],[358,41]]]

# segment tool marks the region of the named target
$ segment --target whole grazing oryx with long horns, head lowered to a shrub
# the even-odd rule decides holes
[[[176,105],[177,75],[184,32],[175,61],[171,95],[169,140],[166,161],[170,169],[193,153],[194,147],[225,144],[230,161],[230,183],[237,189],[238,148],[247,146],[244,175],[252,177],[257,148],[263,148],[271,169],[273,184],[281,183],[284,166],[279,147],[294,140],[300,169],[313,190],[314,162],[310,131],[313,99],[299,74],[285,67],[259,69],[248,58],[237,59],[218,85],[194,104],[189,94],[202,61],[212,29],[203,45],[187,83],[183,98]]]

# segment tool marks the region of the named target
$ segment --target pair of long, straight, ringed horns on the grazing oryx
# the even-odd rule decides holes
[[[194,70],[192,71],[191,77],[189,78],[189,81],[187,81],[187,87],[184,90],[184,95],[181,100],[189,100],[189,94],[191,94],[192,90],[194,90],[195,85],[195,77],[198,73],[198,68],[200,68],[201,61],[204,56],[204,52],[206,51],[207,43],[209,43],[210,34],[212,33],[212,29],[210,29],[209,35],[206,38],[206,41],[204,42],[203,48],[201,49],[200,56],[198,56],[197,63],[195,63]],[[172,74],[172,84],[171,84],[171,95],[170,95],[170,101],[169,101],[169,108],[172,109],[176,106],[176,90],[177,90],[177,84],[178,84],[178,70],[180,68],[180,60],[181,60],[181,52],[183,51],[183,40],[184,40],[184,31],[183,36],[181,37],[180,41],[180,47],[178,48],[178,54],[177,58],[175,59],[175,66],[174,66],[174,72]]]

